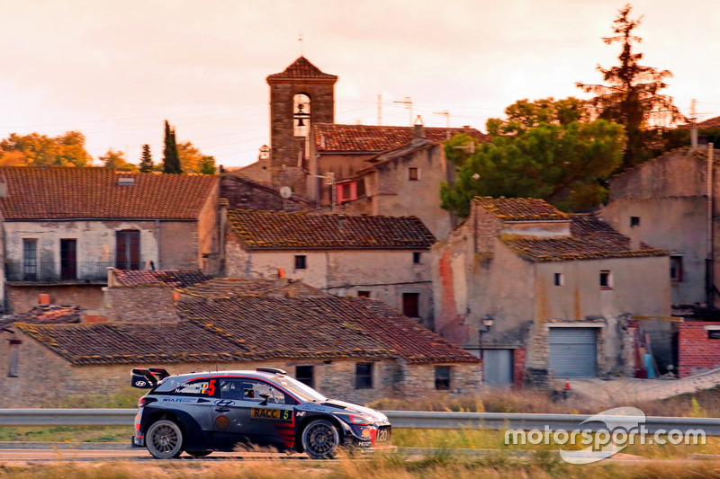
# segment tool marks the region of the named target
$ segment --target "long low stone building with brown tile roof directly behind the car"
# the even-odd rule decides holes
[[[117,282],[129,286],[108,288],[113,308],[125,309],[129,301],[155,305],[144,314],[140,308],[132,323],[0,328],[9,340],[0,368],[14,373],[0,376],[0,407],[113,395],[129,384],[135,367],[175,374],[284,368],[325,395],[357,403],[480,388],[478,359],[381,301],[335,297],[289,280],[211,279],[170,288],[162,282],[175,282],[174,274],[118,272]],[[157,309],[174,315],[158,321]]]

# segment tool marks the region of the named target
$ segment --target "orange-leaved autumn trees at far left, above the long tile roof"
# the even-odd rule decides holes
[[[92,163],[85,151],[85,136],[68,131],[58,137],[40,133],[18,135],[11,133],[0,141],[0,163],[25,166],[85,166]]]

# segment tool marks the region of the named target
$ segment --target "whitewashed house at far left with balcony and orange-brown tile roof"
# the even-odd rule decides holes
[[[107,268],[216,271],[218,178],[0,167],[4,310],[102,306]]]

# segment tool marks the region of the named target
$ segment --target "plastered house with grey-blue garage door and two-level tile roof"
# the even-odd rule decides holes
[[[670,314],[668,253],[543,200],[473,200],[433,246],[435,331],[489,384],[635,372],[635,316]],[[484,319],[494,319],[486,332]]]

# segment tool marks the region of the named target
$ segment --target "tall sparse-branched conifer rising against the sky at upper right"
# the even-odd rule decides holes
[[[577,84],[586,93],[596,95],[590,104],[597,109],[599,118],[625,127],[627,146],[623,169],[632,168],[665,151],[671,145],[661,124],[684,120],[672,98],[659,93],[668,86],[664,80],[672,76],[671,72],[640,65],[643,54],[633,52],[632,43],[642,41],[633,35],[642,17],[631,19],[631,10],[630,4],[621,8],[613,22],[614,36],[602,39],[608,45],[614,42],[622,44],[619,65],[610,68],[598,66],[606,84]]]

